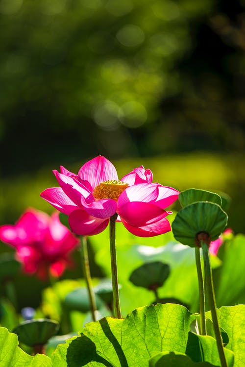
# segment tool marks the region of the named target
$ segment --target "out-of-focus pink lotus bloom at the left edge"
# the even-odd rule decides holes
[[[49,217],[31,208],[15,225],[0,226],[0,240],[16,248],[16,257],[26,273],[36,273],[42,280],[49,271],[54,277],[62,275],[71,264],[70,252],[78,244],[78,239],[61,224],[57,212]]]

